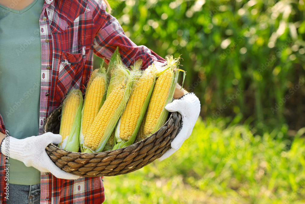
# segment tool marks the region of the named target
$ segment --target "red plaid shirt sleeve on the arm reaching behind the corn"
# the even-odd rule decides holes
[[[93,12],[93,20],[97,33],[93,42],[94,53],[104,58],[108,63],[111,55],[119,47],[123,63],[128,67],[136,60],[142,59],[142,69],[154,63],[157,67],[167,64],[167,61],[146,46],[137,46],[129,39],[115,17],[106,12],[104,1],[96,0],[97,10]],[[99,8],[99,9],[98,9]]]

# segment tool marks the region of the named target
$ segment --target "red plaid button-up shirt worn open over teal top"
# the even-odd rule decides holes
[[[72,88],[84,87],[92,72],[93,53],[108,63],[118,46],[122,61],[130,66],[138,58],[142,67],[166,61],[145,46],[137,46],[124,34],[118,21],[106,12],[102,0],[45,0],[39,20],[41,37],[41,93],[39,134],[45,118],[60,105]],[[46,17],[46,19],[45,19]],[[5,132],[0,115],[0,131]],[[0,153],[0,204],[5,203],[5,157]],[[40,203],[102,203],[101,177],[58,179],[41,173]]]

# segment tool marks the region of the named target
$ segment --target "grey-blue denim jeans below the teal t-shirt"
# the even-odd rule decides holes
[[[18,185],[9,184],[9,199],[7,204],[39,204],[40,184]]]

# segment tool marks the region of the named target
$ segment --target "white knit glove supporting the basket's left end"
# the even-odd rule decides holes
[[[9,136],[9,145],[6,145],[7,141],[5,141],[5,139],[1,145],[1,153],[8,153],[9,158],[22,161],[27,167],[33,166],[41,172],[51,172],[54,176],[60,179],[79,178],[79,176],[72,175],[57,167],[45,151],[48,144],[60,143],[61,135],[47,132],[39,136],[27,137],[25,139],[16,139]]]

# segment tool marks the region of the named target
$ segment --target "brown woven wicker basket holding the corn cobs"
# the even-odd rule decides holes
[[[45,120],[44,133],[59,133],[61,107]],[[170,114],[167,122],[150,137],[130,146],[100,153],[79,153],[60,149],[54,144],[46,152],[55,164],[66,172],[83,177],[117,176],[141,169],[160,158],[170,149],[171,141],[181,126],[181,115]]]

